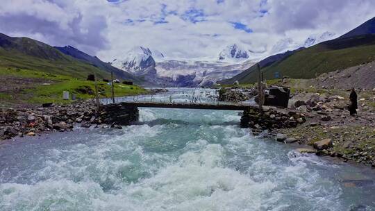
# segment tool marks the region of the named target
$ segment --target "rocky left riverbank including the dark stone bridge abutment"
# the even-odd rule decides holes
[[[137,108],[103,105],[97,114],[92,101],[76,101],[48,108],[17,108],[0,111],[0,140],[24,135],[35,136],[48,131],[67,131],[74,126],[121,128],[138,119]]]

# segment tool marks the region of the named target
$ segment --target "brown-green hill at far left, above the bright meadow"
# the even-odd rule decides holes
[[[97,74],[108,78],[106,71],[67,56],[57,49],[27,37],[9,37],[0,33],[0,67],[15,67],[51,74],[87,78]]]

